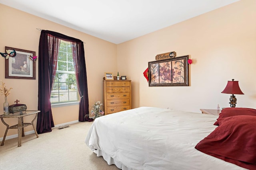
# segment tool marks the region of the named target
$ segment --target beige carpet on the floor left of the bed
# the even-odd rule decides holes
[[[0,146],[0,170],[119,170],[84,143],[92,122],[71,124],[50,133],[9,139]],[[9,129],[14,130],[14,129]],[[15,129],[16,130],[16,129]],[[8,133],[7,133],[8,135]]]

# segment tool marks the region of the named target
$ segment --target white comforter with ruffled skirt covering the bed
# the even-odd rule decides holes
[[[139,107],[95,119],[85,143],[108,164],[123,170],[246,169],[211,155],[210,147],[204,150],[212,142],[207,141],[208,135],[222,127],[222,119],[226,118]]]

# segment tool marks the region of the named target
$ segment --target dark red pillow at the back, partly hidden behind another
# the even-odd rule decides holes
[[[219,119],[224,117],[236,116],[236,115],[252,115],[256,116],[256,109],[242,108],[242,107],[227,107],[222,109],[219,118],[213,125],[219,125]]]

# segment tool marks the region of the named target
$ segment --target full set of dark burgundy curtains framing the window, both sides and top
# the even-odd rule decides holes
[[[89,113],[88,103],[88,90],[87,90],[87,79],[84,59],[84,44],[81,40],[73,37],[68,37],[61,33],[54,31],[42,30],[39,40],[39,55],[38,55],[38,113],[36,130],[40,133],[46,133],[52,131],[54,122],[52,118],[52,109],[50,103],[50,96],[53,81],[56,74],[57,61],[58,61],[58,50],[60,46],[60,40],[70,41],[79,43],[79,47],[76,49],[74,63],[76,63],[75,69],[82,70],[77,78],[78,89],[82,92],[80,95],[83,96],[83,102],[80,101],[79,109],[79,121],[92,121],[92,119],[85,119],[84,116]],[[74,51],[74,50],[73,50]],[[77,59],[81,58],[81,59]],[[76,62],[78,60],[78,63]],[[82,63],[82,61],[84,61]],[[82,69],[80,69],[82,67]],[[84,77],[86,80],[84,80]],[[81,85],[80,85],[81,84]],[[86,94],[86,95],[85,95]],[[85,97],[87,96],[87,98]],[[86,98],[86,100],[84,100]],[[81,106],[82,103],[82,106]]]

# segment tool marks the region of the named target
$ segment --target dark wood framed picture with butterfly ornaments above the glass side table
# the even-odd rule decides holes
[[[36,62],[30,59],[36,55],[35,51],[28,51],[12,47],[5,50],[15,50],[16,56],[5,60],[5,78],[36,79]],[[25,66],[26,64],[26,66]]]

